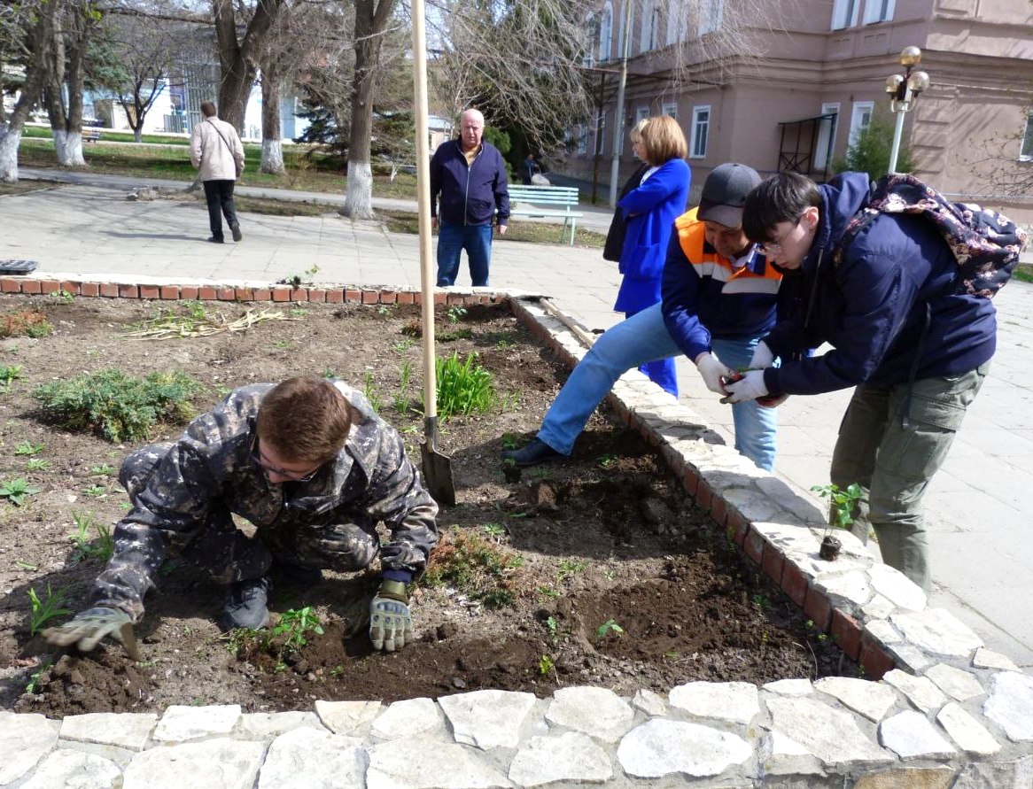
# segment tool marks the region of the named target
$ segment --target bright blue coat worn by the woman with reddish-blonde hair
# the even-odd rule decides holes
[[[627,221],[621,247],[624,275],[614,309],[635,313],[660,301],[660,280],[675,219],[685,212],[692,173],[684,159],[670,159],[618,201]]]

